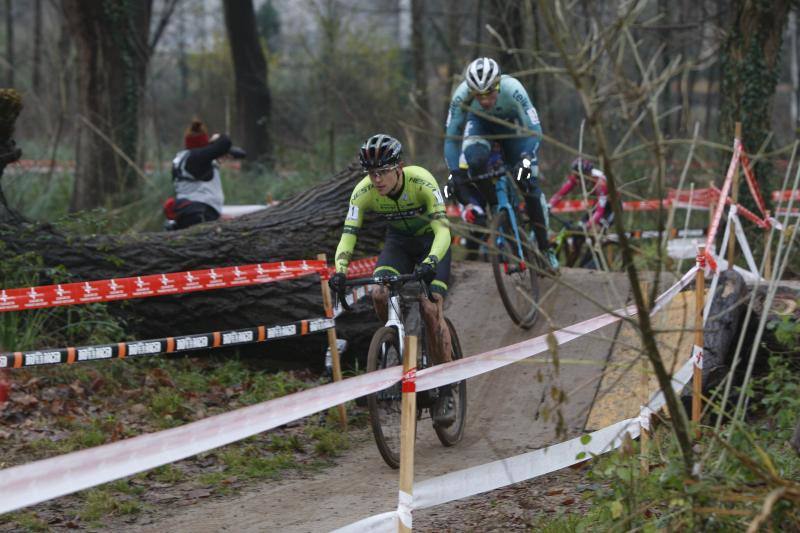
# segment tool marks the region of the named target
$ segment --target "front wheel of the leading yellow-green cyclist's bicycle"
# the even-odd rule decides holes
[[[367,371],[374,372],[403,364],[397,330],[380,328],[372,336],[367,354]],[[375,444],[386,464],[400,467],[400,406],[402,403],[400,382],[367,396],[369,420]]]

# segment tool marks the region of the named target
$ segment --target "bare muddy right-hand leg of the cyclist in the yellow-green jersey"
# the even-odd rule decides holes
[[[425,239],[427,255],[433,237]],[[424,258],[424,255],[422,256]],[[434,364],[448,363],[452,360],[453,345],[450,339],[450,329],[444,320],[444,298],[447,295],[447,286],[450,282],[450,250],[444,255],[436,266],[436,277],[431,283],[433,301],[427,298],[420,299],[420,314],[428,331],[428,353],[431,354]]]

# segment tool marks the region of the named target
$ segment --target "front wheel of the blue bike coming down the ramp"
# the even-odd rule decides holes
[[[520,234],[522,236],[521,229]],[[528,329],[536,321],[539,304],[539,278],[533,268],[538,262],[527,239],[522,243],[524,257],[519,257],[517,240],[505,210],[492,219],[489,248],[503,306],[515,324]]]

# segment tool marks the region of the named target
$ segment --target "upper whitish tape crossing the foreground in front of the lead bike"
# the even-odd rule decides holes
[[[652,312],[660,310],[694,277],[695,268],[665,291]],[[606,313],[555,332],[559,344],[620,320],[632,306]],[[594,325],[592,323],[595,323]],[[427,368],[417,374],[417,390],[488,372],[547,349],[547,335],[459,361]],[[527,355],[526,355],[527,354]],[[475,360],[474,363],[470,363]],[[178,428],[140,435],[96,448],[69,453],[0,471],[0,513],[5,513],[113,481],[230,444],[257,433],[309,416],[348,400],[378,392],[402,378],[402,367],[369,372]],[[397,516],[397,511],[391,514]]]

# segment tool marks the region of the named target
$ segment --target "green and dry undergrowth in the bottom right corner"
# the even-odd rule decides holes
[[[651,441],[650,472],[640,470],[638,442],[598,457],[587,473],[598,487],[586,493],[590,512],[541,517],[533,530],[744,531],[779,488],[789,492],[762,529],[800,529],[800,457],[787,442],[800,417],[800,373],[791,359],[775,355],[769,367],[744,391],[750,418],[695,444],[698,476],[686,475],[674,436],[662,426]]]

